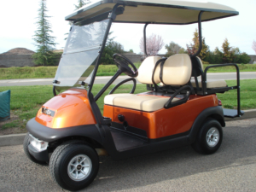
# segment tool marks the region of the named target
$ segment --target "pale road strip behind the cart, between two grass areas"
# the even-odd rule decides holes
[[[112,76],[96,77],[96,84],[106,84]],[[119,76],[113,84],[118,84],[120,81],[129,78],[128,76]],[[207,79],[236,79],[236,73],[208,73]],[[241,72],[240,79],[256,79],[256,72]],[[24,86],[24,85],[47,85],[52,84],[54,79],[7,79],[0,80],[0,86]],[[129,84],[129,83],[128,83]],[[130,82],[131,84],[131,82]]]

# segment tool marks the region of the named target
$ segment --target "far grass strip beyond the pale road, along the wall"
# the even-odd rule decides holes
[[[136,67],[140,66],[140,63],[135,63]],[[204,65],[206,68],[208,65]],[[256,65],[241,64],[238,65],[241,72],[255,72]],[[97,76],[113,76],[117,72],[115,65],[100,65]],[[57,67],[9,67],[0,68],[0,79],[44,79],[54,78]],[[211,68],[208,73],[226,73],[236,72],[235,67],[218,67]]]

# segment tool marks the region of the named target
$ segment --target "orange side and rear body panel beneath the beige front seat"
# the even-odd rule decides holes
[[[148,138],[156,139],[189,131],[196,117],[214,106],[218,106],[216,95],[189,96],[189,101],[182,105],[152,113],[104,105],[104,116],[121,123],[118,115],[123,114],[128,125],[147,131]]]

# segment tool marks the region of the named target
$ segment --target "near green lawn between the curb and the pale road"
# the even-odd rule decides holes
[[[235,80],[227,81],[229,85],[235,85]],[[104,84],[95,84],[93,94],[102,89]],[[101,111],[103,111],[103,98],[113,88],[110,88],[97,101]],[[128,93],[132,85],[122,85],[115,93]],[[38,109],[53,97],[51,85],[38,86],[11,86],[0,87],[0,92],[11,90],[11,113],[18,118],[10,120],[8,123],[0,124],[0,132],[9,128],[19,127],[20,131],[26,132],[25,125],[28,119],[35,117]],[[135,93],[145,92],[145,84],[137,84]],[[222,101],[224,108],[237,108],[236,105],[236,90],[230,90],[224,94],[218,94],[218,98]],[[256,79],[241,80],[241,109],[256,108]]]

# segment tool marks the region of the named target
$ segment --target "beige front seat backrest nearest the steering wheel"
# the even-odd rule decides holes
[[[160,56],[148,56],[138,69],[137,80],[142,84],[153,84],[152,75],[154,71],[154,66],[157,61],[161,59]],[[160,83],[160,65],[156,67],[154,73],[154,82],[156,84]]]

